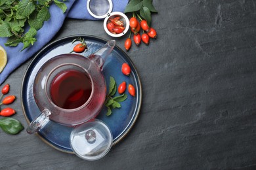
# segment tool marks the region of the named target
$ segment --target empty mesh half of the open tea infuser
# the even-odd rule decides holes
[[[113,9],[112,0],[88,0],[87,10],[94,18],[106,18]]]

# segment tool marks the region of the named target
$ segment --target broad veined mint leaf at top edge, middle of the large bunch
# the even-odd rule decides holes
[[[17,18],[23,19],[28,18],[30,14],[32,14],[33,10],[35,10],[35,4],[30,0],[22,0],[18,3],[17,7]]]

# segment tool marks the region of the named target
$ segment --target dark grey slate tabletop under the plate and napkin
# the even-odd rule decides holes
[[[256,1],[154,5],[158,39],[127,52],[143,93],[128,135],[101,160],[85,161],[25,130],[0,131],[0,169],[256,169]],[[111,39],[102,23],[66,19],[51,41],[77,34]],[[126,38],[116,39],[123,50]],[[13,118],[25,127],[20,85],[30,61],[5,81],[17,97]]]

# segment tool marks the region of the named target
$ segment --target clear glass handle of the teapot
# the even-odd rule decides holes
[[[41,114],[39,116],[37,116],[37,118],[35,118],[35,120],[33,120],[30,125],[27,127],[27,132],[29,134],[33,134],[37,131],[39,131],[39,129],[42,129],[50,120],[49,120],[49,116],[50,116],[51,112],[48,109],[44,109]]]

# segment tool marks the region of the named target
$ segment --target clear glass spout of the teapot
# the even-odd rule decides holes
[[[96,65],[98,65],[98,67],[102,69],[106,59],[112,52],[115,45],[115,40],[108,41],[106,44],[104,44],[104,46],[102,46],[102,48],[88,56],[88,58],[93,60],[96,63]]]

